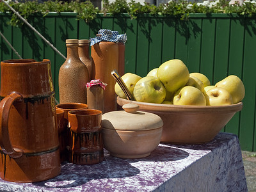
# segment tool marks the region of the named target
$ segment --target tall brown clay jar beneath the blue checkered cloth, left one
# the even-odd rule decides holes
[[[118,68],[118,44],[114,42],[99,42],[92,46],[91,51],[92,65],[95,67],[94,79],[100,79],[107,83],[104,92],[104,111],[116,110],[116,93],[115,79],[111,76],[111,72]]]

